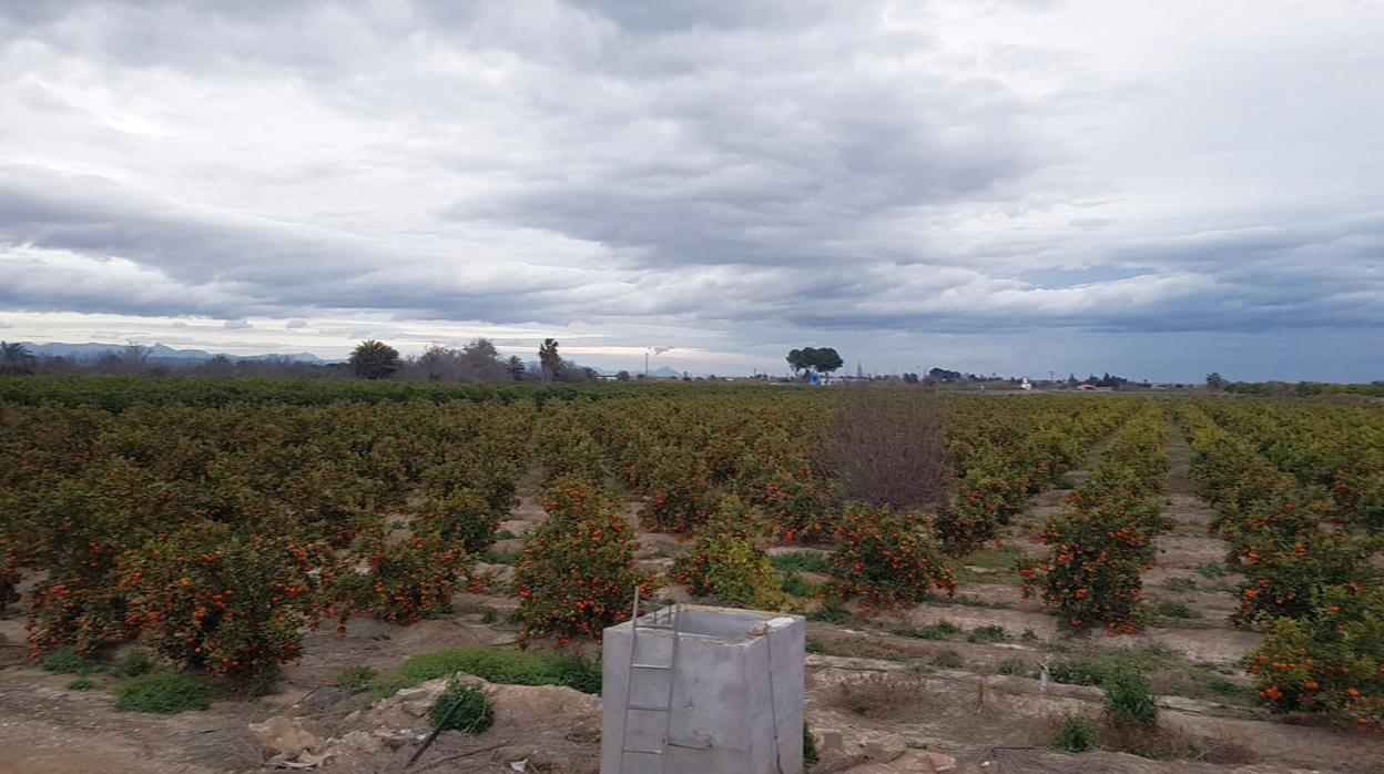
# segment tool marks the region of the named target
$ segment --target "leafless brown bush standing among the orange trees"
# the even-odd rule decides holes
[[[945,421],[923,388],[841,389],[830,446],[846,494],[895,508],[931,505],[943,496]]]

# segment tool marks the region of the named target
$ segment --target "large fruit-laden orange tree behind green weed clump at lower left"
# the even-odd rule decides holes
[[[161,655],[259,691],[302,655],[331,565],[321,543],[201,522],[125,552],[119,590],[126,620]]]

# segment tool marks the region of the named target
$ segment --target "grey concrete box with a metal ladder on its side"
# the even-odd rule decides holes
[[[657,615],[659,623],[667,623],[667,611]],[[634,663],[666,665],[673,655],[673,631],[644,629],[653,623],[655,613],[639,619]],[[631,623],[605,630],[601,774],[801,774],[803,619],[682,605],[678,630],[673,670],[632,672]],[[663,706],[673,680],[670,716],[626,712],[631,674],[630,705],[635,706]],[[668,744],[662,738],[664,723]],[[621,739],[626,748],[664,755],[621,753]]]

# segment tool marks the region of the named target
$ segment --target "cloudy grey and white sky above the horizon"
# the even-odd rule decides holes
[[[1373,0],[0,0],[0,338],[1384,378]]]

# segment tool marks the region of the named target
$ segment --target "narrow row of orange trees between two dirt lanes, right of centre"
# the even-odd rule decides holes
[[[1160,501],[1165,425],[1161,407],[1139,410],[1063,512],[1038,526],[1035,539],[1049,547],[1048,558],[1020,566],[1024,594],[1041,588],[1044,602],[1074,630],[1104,626],[1132,634],[1147,618],[1139,575],[1157,557],[1154,539],[1171,528]]]

